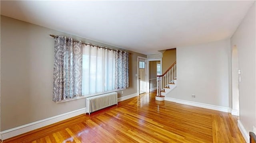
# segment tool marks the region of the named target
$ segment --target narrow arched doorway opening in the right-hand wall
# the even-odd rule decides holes
[[[238,68],[238,50],[236,45],[232,47],[232,115],[239,116],[239,79],[241,72]]]

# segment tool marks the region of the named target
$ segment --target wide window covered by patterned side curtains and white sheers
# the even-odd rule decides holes
[[[54,39],[54,102],[129,87],[126,51],[97,47],[61,35]]]

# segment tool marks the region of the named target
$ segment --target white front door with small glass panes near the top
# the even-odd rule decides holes
[[[139,94],[146,92],[146,60],[139,59]]]

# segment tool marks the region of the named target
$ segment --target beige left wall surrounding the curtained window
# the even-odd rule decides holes
[[[116,47],[1,16],[1,131],[84,108],[86,98],[52,102],[54,39],[66,35],[84,42]],[[137,56],[130,55],[130,88],[118,97],[137,92]]]

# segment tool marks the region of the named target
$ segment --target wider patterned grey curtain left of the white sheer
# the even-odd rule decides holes
[[[58,36],[54,46],[54,102],[82,95],[82,41]]]

